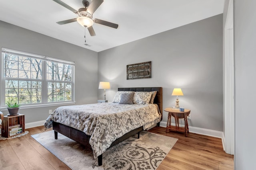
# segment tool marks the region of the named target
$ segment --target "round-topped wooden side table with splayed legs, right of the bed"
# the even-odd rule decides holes
[[[178,132],[185,132],[185,136],[188,137],[188,115],[190,114],[190,109],[184,109],[184,111],[180,111],[180,109],[175,109],[175,108],[166,108],[164,111],[168,112],[168,120],[167,120],[167,125],[166,125],[166,133],[172,131],[178,131]],[[175,118],[175,124],[176,126],[171,126],[171,117]],[[180,127],[179,126],[179,119],[184,118],[185,121],[185,127]]]

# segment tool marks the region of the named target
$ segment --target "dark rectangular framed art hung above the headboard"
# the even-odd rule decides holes
[[[151,78],[151,61],[126,66],[127,80]]]

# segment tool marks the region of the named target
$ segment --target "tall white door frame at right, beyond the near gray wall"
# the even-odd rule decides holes
[[[229,1],[224,27],[224,136],[225,152],[234,154],[234,34],[233,0]]]

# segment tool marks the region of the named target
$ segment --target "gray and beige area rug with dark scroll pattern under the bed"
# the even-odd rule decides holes
[[[103,153],[102,166],[92,150],[54,131],[31,135],[72,170],[150,170],[156,169],[178,139],[148,131],[140,132]]]

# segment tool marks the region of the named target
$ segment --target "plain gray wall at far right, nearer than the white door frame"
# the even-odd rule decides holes
[[[256,1],[234,0],[235,169],[256,169]]]

